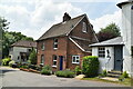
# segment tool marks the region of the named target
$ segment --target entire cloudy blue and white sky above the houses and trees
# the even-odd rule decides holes
[[[94,31],[115,22],[121,28],[121,9],[124,0],[1,0],[0,17],[7,19],[9,31],[39,39],[52,24],[62,21],[64,12],[71,18],[86,13]]]

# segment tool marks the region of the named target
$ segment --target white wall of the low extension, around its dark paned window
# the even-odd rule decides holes
[[[99,57],[98,49],[99,49],[99,47],[92,47],[92,56]],[[108,58],[106,50],[110,51],[110,56],[111,56],[110,61]],[[106,69],[108,71],[113,70],[114,69],[114,48],[113,47],[105,47],[105,58],[99,58],[99,61],[100,61],[99,73],[101,73],[104,69]],[[109,63],[106,63],[108,61],[109,61]]]

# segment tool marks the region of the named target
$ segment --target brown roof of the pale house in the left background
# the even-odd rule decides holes
[[[37,42],[34,41],[25,41],[25,40],[20,40],[18,42],[14,42],[11,44],[12,47],[33,47],[37,48]]]

